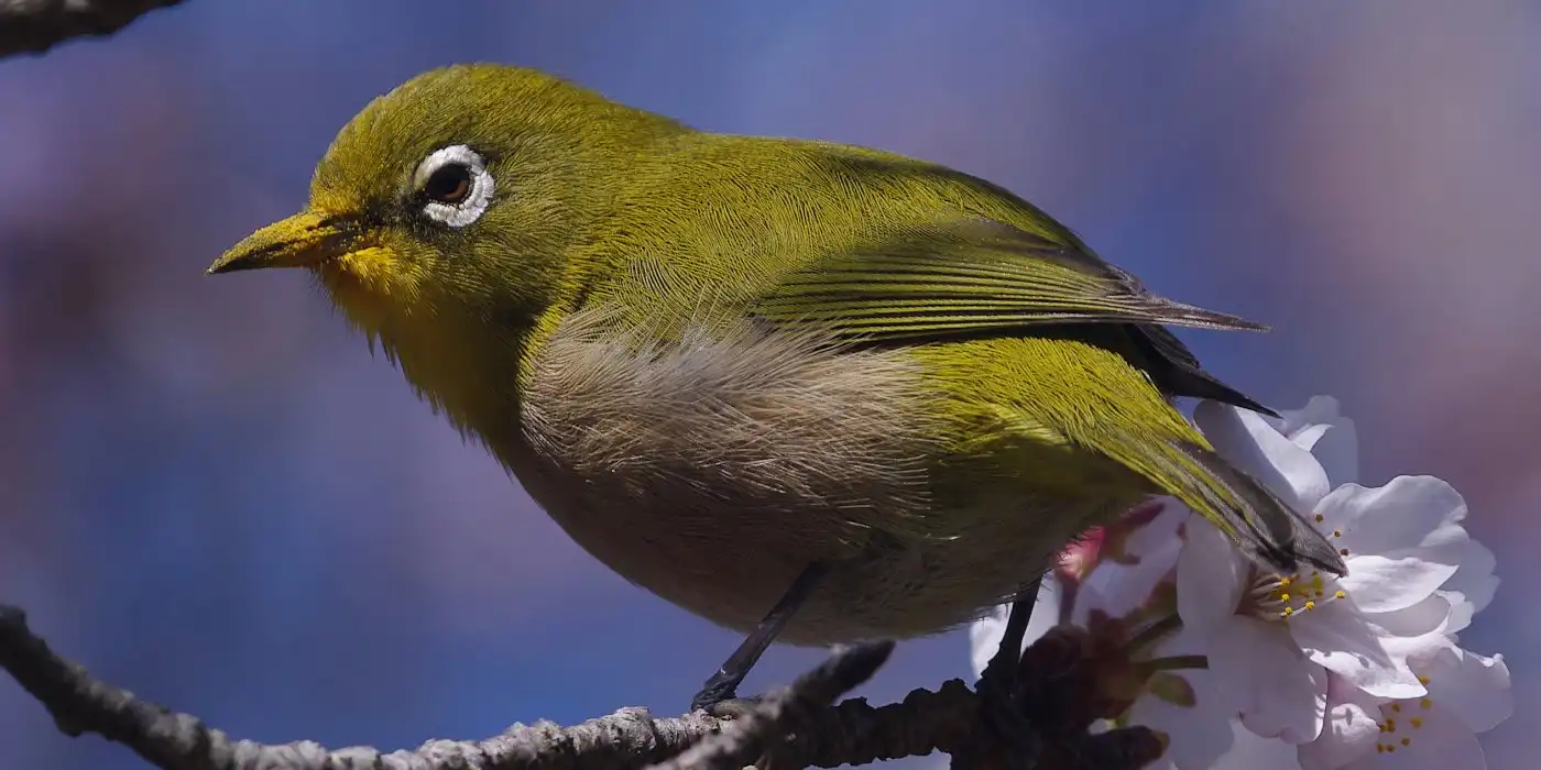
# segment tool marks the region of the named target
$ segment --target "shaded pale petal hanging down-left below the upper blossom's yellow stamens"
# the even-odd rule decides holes
[[[1291,744],[1321,735],[1327,671],[1305,659],[1282,624],[1236,618],[1205,641],[1216,691],[1248,730]]]

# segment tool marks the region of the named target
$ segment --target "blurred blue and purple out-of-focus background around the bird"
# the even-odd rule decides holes
[[[0,62],[0,601],[65,654],[242,738],[402,748],[673,715],[737,642],[581,553],[305,276],[202,274],[304,202],[365,102],[467,60],[949,163],[1273,323],[1185,339],[1265,402],[1339,396],[1370,482],[1467,496],[1506,585],[1462,636],[1518,695],[1490,767],[1533,756],[1529,0],[193,0]],[[750,684],[818,656],[777,648]],[[865,693],[966,668],[962,634],[908,644]],[[0,681],[0,767],[142,765]]]

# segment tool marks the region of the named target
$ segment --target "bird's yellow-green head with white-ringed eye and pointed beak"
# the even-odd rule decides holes
[[[632,159],[680,129],[533,69],[435,69],[365,106],[307,206],[208,273],[307,268],[387,343],[416,319],[529,325],[572,293],[567,254]]]

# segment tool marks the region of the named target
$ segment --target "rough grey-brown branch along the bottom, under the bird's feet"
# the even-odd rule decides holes
[[[891,650],[891,644],[843,648],[732,722],[703,711],[655,719],[644,708],[623,708],[572,727],[515,724],[484,741],[430,741],[413,752],[384,753],[370,747],[327,750],[313,741],[265,745],[231,739],[194,716],[92,678],[32,633],[22,610],[0,605],[0,668],[48,708],[60,732],[97,733],[168,770],[636,770],[655,764],[660,770],[737,770],[760,755],[777,768],[837,767],[934,750],[977,758],[997,744],[982,727],[979,696],[957,679],[877,708],[861,698],[828,705],[866,681]],[[1074,682],[1062,673],[1056,679]],[[1051,742],[1045,768],[1133,770],[1154,758],[1153,736],[1140,728],[1096,736],[1080,730],[1059,748]]]

